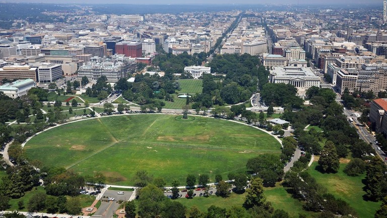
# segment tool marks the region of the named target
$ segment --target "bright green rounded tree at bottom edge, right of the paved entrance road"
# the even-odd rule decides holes
[[[161,189],[149,184],[139,191],[138,214],[141,217],[157,217],[161,214],[163,203],[166,200]]]

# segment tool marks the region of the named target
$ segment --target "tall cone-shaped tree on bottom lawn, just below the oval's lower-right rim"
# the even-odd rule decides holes
[[[246,198],[243,207],[248,209],[253,206],[261,206],[265,203],[263,180],[259,177],[253,177],[250,180],[250,188],[246,190]]]

